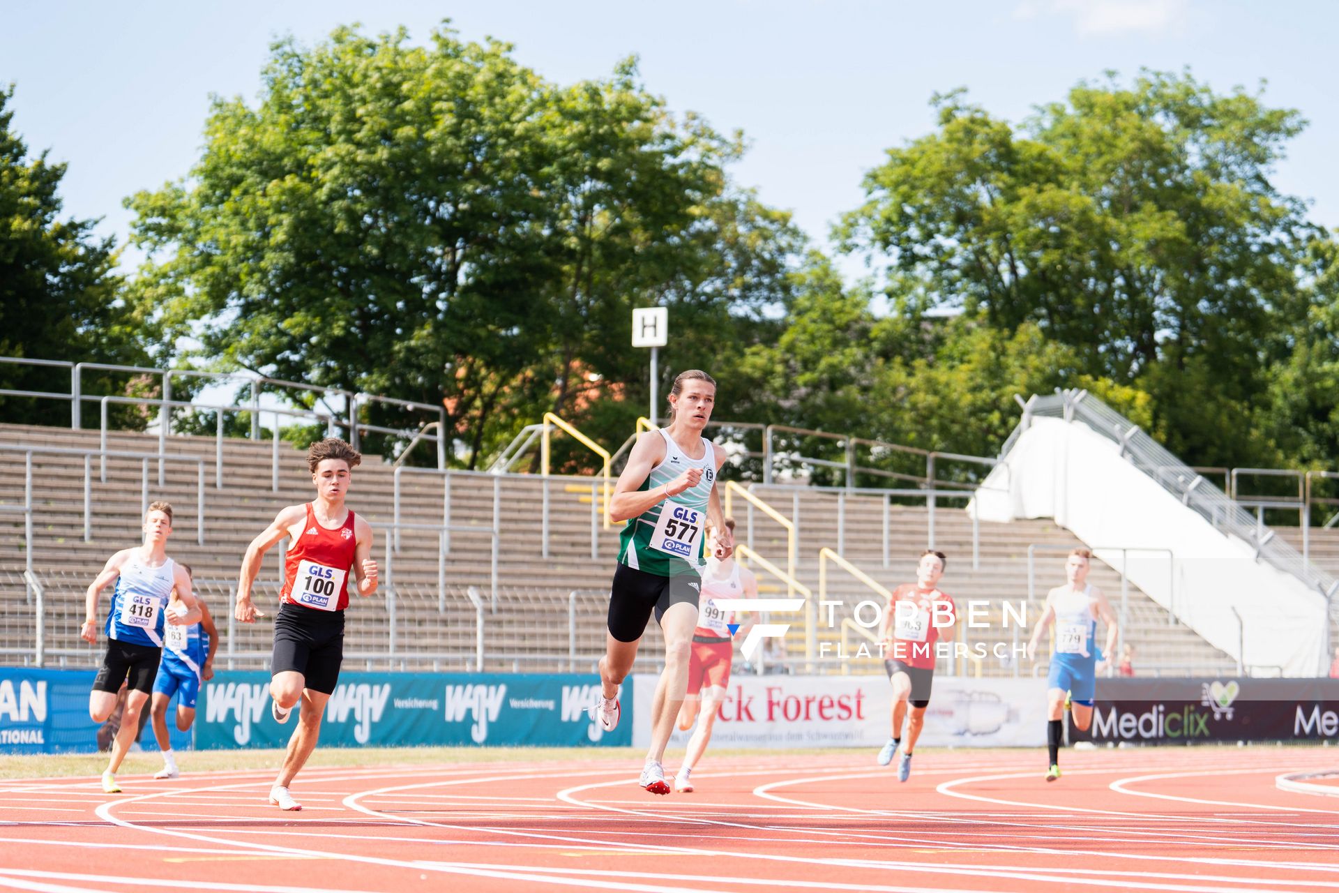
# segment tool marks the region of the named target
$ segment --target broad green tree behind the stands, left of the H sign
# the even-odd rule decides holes
[[[609,383],[637,380],[632,307],[746,325],[778,300],[798,236],[730,187],[736,154],[631,63],[560,88],[445,27],[281,42],[257,106],[214,102],[189,178],[130,199],[138,288],[174,332],[204,320],[206,355],[445,404],[473,465],[545,410],[631,396]]]

